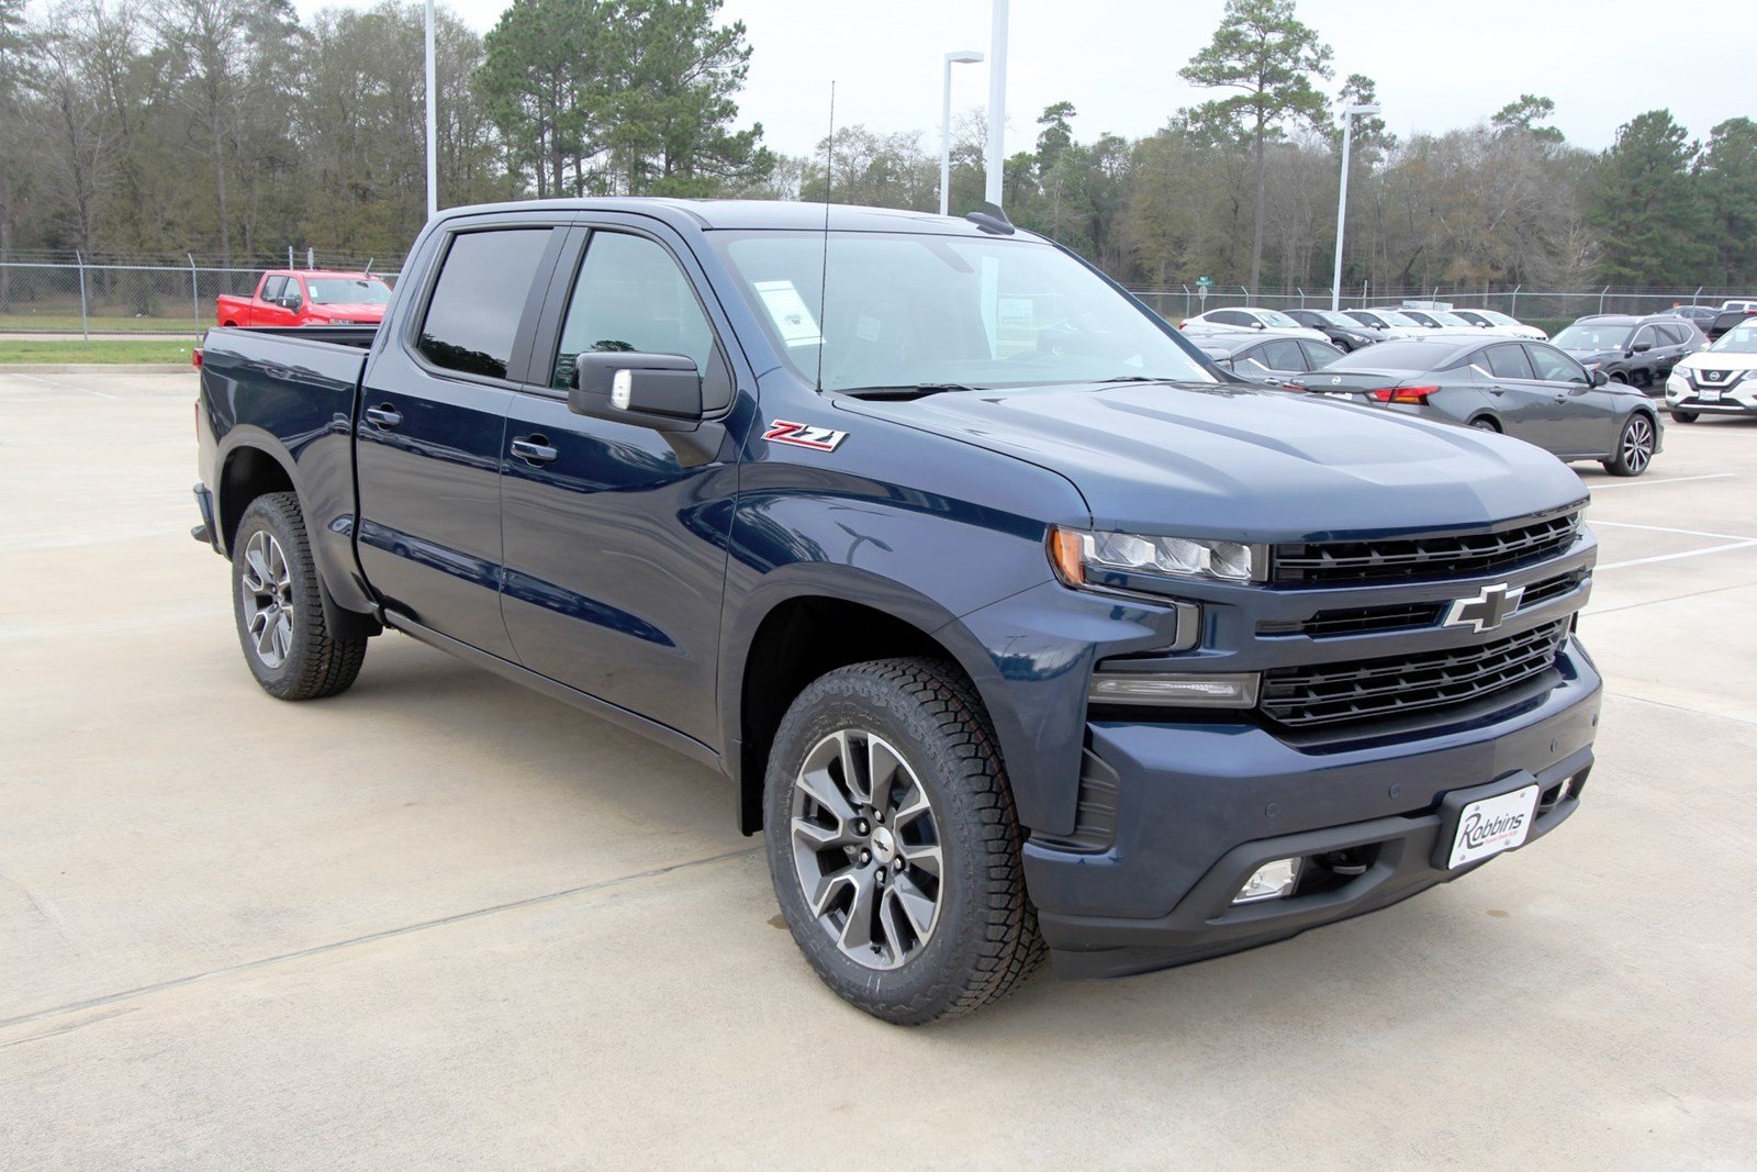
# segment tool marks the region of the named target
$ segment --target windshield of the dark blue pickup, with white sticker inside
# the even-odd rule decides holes
[[[826,260],[822,232],[708,239],[801,378],[822,353],[824,390],[1214,381],[1170,327],[1049,244],[838,232]]]

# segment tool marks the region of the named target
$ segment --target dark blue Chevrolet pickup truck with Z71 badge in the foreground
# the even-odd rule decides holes
[[[202,362],[264,689],[390,627],[720,770],[889,1021],[1395,903],[1592,764],[1573,473],[1225,381],[998,214],[462,207],[380,329]]]

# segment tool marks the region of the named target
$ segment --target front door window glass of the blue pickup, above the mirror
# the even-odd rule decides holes
[[[664,246],[643,235],[594,232],[560,327],[552,387],[573,381],[587,350],[683,355],[703,374],[713,330],[696,290]]]

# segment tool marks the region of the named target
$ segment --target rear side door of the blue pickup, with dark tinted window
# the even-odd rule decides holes
[[[429,241],[360,394],[360,568],[385,606],[511,659],[501,620],[501,448],[566,230],[464,220]],[[436,272],[437,269],[437,272]]]

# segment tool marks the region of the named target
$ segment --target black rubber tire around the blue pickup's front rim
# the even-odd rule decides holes
[[[829,856],[835,879],[819,886],[819,893],[850,891],[852,875],[870,873],[873,865],[880,877],[891,875],[884,857],[871,865],[863,861],[866,852],[857,847],[871,845],[878,854],[877,835],[886,829],[864,821],[859,826],[870,826],[873,838],[856,838],[856,845],[828,850],[808,840],[808,847],[796,849],[796,824],[808,821],[803,814],[796,815],[801,808],[842,826],[842,817],[813,801],[810,789],[801,789],[801,773],[812,754],[838,736],[866,736],[868,743],[893,750],[908,771],[905,791],[924,794],[931,807],[928,821],[935,835],[929,847],[938,847],[940,856],[940,877],[933,884],[936,914],[926,938],[917,938],[912,952],[900,951],[894,966],[875,966],[886,959],[878,942],[886,924],[878,921],[868,919],[868,926],[877,924],[864,933],[875,940],[864,949],[868,961],[843,951],[847,924],[859,908],[857,896],[849,896],[852,901],[840,912],[838,924],[838,910],[831,908],[822,917],[813,914],[805,891],[801,868],[821,866],[824,856]],[[873,757],[866,761],[868,771],[875,771],[870,768]],[[828,766],[828,771],[836,770],[845,766]],[[905,773],[894,777],[905,778]],[[880,799],[875,798],[873,807],[852,807],[854,812],[873,808],[882,810]],[[891,879],[891,894],[901,905],[903,880],[926,884],[933,877],[921,877],[903,857],[903,812],[893,814],[893,824],[900,879]],[[973,687],[947,662],[880,659],[852,664],[799,692],[770,752],[763,829],[775,898],[794,942],[824,984],[875,1017],[922,1024],[968,1014],[1007,996],[1042,965],[1045,952],[1037,910],[1024,893],[1019,821],[994,733]],[[912,849],[919,852],[921,845]],[[849,857],[843,861],[838,850]],[[799,863],[796,856],[801,854],[812,861]],[[838,879],[847,879],[849,887],[836,887]],[[877,882],[878,887],[868,891],[877,891],[871,914],[882,919],[887,908],[886,880]],[[912,891],[919,894],[921,887]],[[901,915],[901,910],[893,908],[891,914]],[[838,928],[840,938],[833,935]]]

